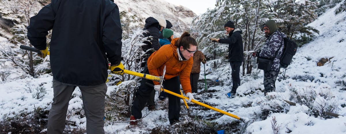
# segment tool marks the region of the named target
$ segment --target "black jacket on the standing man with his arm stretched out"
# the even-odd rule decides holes
[[[242,33],[242,30],[234,29],[229,32],[228,38],[219,40],[219,43],[228,44],[228,62],[243,62],[244,47]]]

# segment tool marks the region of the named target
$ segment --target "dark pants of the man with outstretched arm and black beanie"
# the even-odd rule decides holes
[[[242,65],[242,62],[230,62],[231,69],[232,69],[232,93],[236,93],[237,88],[240,86],[240,78],[239,78],[239,72],[240,72],[240,66]]]

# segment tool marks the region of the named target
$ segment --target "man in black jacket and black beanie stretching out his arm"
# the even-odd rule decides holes
[[[222,38],[222,39],[210,38],[210,40],[212,42],[229,44],[228,45],[228,62],[230,62],[231,64],[233,87],[231,91],[228,92],[226,95],[228,98],[234,98],[236,94],[236,90],[238,86],[240,86],[239,72],[240,72],[240,66],[242,65],[243,58],[244,58],[243,38],[241,35],[243,31],[239,29],[235,29],[235,25],[233,21],[228,21],[225,24],[225,29],[227,34],[229,35],[228,38]]]

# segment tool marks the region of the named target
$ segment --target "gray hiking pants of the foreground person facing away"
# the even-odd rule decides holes
[[[48,134],[63,134],[66,113],[72,92],[76,86],[64,85],[53,79],[54,98],[48,114]],[[104,98],[106,83],[97,86],[79,87],[82,92],[83,108],[86,117],[86,133],[104,134]]]

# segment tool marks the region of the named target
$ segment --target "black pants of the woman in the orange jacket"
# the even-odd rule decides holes
[[[146,69],[145,69],[146,70]],[[146,71],[145,74],[149,74],[149,71]],[[152,80],[147,80],[142,78],[142,81],[140,83],[140,87],[136,92],[136,97],[134,99],[133,105],[131,107],[132,115],[135,116],[136,119],[142,118],[142,110],[145,107],[145,104],[147,103],[150,93],[154,90],[153,87],[150,87],[146,84],[146,82],[154,84]],[[165,80],[164,82],[164,89],[170,90],[172,92],[180,94],[180,81],[179,76],[176,76],[174,78]],[[179,121],[180,117],[180,98],[173,96],[171,94],[168,94],[168,118],[171,124],[173,124],[176,121]]]

